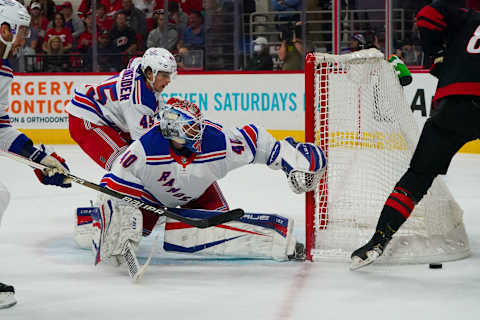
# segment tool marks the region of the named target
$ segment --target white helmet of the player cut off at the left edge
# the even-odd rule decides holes
[[[24,32],[28,36],[30,14],[21,3],[15,0],[0,0],[0,25],[4,23],[8,23],[13,34],[12,41],[7,41],[0,36],[0,41],[7,46],[3,54],[3,58],[6,59],[19,31],[25,29]]]

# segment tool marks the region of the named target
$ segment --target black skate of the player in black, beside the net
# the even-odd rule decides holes
[[[366,245],[352,253],[350,270],[357,270],[373,263],[383,254],[385,247],[390,240],[392,240],[392,237],[377,230],[372,239]]]

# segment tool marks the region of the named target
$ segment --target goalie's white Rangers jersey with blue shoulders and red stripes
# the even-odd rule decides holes
[[[276,140],[253,124],[225,130],[205,120],[200,152],[182,156],[158,124],[117,158],[101,185],[144,202],[177,207],[200,197],[229,171],[267,163]]]

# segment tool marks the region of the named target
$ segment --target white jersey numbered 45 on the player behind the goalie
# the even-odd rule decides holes
[[[163,100],[148,88],[138,68],[122,70],[99,85],[75,90],[66,111],[137,140],[152,127]]]

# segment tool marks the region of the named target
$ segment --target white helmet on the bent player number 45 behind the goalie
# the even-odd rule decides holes
[[[173,78],[177,73],[177,62],[167,49],[149,48],[142,57],[142,71],[145,73],[148,67],[152,69],[153,79],[158,72],[166,72]]]

